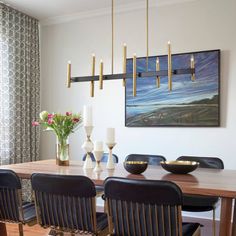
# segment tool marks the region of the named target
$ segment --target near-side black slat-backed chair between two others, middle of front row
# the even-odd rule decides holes
[[[96,213],[94,183],[85,176],[33,174],[38,223],[55,230],[107,235],[107,216]]]

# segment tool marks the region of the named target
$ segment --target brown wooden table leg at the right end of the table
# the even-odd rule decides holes
[[[221,199],[220,236],[231,236],[232,198]]]

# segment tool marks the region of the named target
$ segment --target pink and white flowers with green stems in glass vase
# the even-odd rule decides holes
[[[42,111],[39,114],[40,121],[34,121],[33,126],[42,125],[45,130],[52,130],[57,136],[57,161],[68,162],[69,144],[68,137],[75,132],[82,122],[81,115],[66,112],[65,115],[59,113],[48,113]],[[60,165],[60,162],[59,162]]]

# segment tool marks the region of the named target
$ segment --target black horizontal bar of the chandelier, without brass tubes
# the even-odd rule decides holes
[[[193,75],[195,73],[195,68],[188,68],[188,69],[176,69],[172,70],[173,75]],[[160,76],[168,76],[168,70],[160,70],[160,71],[148,71],[148,72],[137,72],[138,78],[143,77],[160,77]],[[110,74],[110,75],[103,75],[103,80],[116,80],[116,79],[132,79],[133,73],[127,74]],[[80,77],[72,77],[71,82],[87,82],[87,81],[99,81],[99,75],[95,76],[80,76]]]

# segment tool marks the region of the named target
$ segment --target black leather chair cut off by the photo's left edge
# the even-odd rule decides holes
[[[20,236],[24,224],[36,224],[34,203],[22,202],[21,181],[11,170],[0,170],[0,221],[18,224]]]

